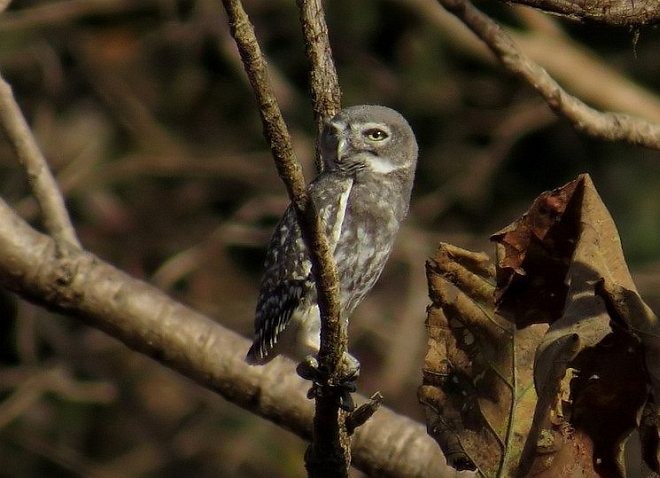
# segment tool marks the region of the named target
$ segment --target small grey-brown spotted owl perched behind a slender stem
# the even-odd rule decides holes
[[[384,106],[343,109],[321,136],[323,172],[308,194],[324,225],[340,282],[340,314],[348,320],[374,286],[408,213],[417,142],[408,122]],[[289,206],[268,246],[255,314],[250,364],[283,353],[316,354],[320,315],[309,255]],[[359,363],[345,357],[353,373]]]

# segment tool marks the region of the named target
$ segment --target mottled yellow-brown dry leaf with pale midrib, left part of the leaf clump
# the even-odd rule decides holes
[[[485,254],[441,244],[427,274],[433,304],[419,398],[429,433],[455,468],[511,476],[534,414],[532,365],[547,326],[518,330],[494,313]]]

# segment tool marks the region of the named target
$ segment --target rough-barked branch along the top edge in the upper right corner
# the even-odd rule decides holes
[[[641,26],[660,21],[657,0],[505,0],[571,20],[610,26]]]

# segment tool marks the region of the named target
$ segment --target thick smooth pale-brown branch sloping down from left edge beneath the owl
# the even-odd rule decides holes
[[[58,246],[1,200],[0,285],[81,318],[304,439],[311,436],[308,384],[290,360],[247,365],[245,338],[89,252]],[[355,466],[378,476],[457,476],[422,425],[387,409],[356,432],[353,455]]]

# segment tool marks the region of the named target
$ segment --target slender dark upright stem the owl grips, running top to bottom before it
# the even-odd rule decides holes
[[[254,28],[240,0],[223,0],[229,16],[231,34],[236,41],[245,71],[255,93],[264,136],[270,144],[278,173],[286,185],[302,232],[303,240],[312,262],[318,305],[321,314],[320,370],[327,372],[327,381],[322,383],[323,392],[316,397],[316,415],[310,460],[322,457],[324,467],[319,471],[347,476],[350,464],[348,435],[344,415],[339,409],[338,391],[329,384],[338,383],[341,376],[342,357],[346,352],[346,324],[339,314],[339,281],[334,259],[323,233],[321,221],[314,203],[309,200],[305,180],[295,157],[284,119],[275,98],[265,61]],[[308,462],[309,464],[309,462]]]

